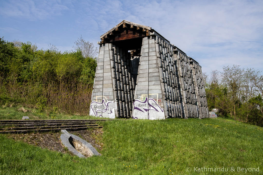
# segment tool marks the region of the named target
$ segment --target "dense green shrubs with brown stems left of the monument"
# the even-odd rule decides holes
[[[87,114],[96,66],[80,50],[37,50],[30,42],[15,46],[0,37],[1,105]]]

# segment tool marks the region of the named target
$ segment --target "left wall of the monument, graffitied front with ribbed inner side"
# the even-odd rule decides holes
[[[112,44],[100,46],[90,115],[129,118],[134,96],[134,79],[127,50]]]

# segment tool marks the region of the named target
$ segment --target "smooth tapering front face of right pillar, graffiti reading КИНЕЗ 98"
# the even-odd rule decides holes
[[[133,103],[135,119],[165,119],[155,40],[154,36],[143,38]]]

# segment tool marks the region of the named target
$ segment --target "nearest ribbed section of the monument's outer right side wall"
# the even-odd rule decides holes
[[[173,45],[161,36],[155,37],[157,61],[164,100],[165,116],[183,118],[180,84]]]

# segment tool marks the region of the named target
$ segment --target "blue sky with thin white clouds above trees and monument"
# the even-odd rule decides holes
[[[158,31],[203,72],[233,64],[263,71],[263,1],[0,0],[0,36],[38,49],[71,50],[80,35],[98,47],[124,19]]]

